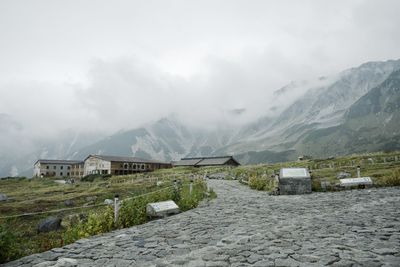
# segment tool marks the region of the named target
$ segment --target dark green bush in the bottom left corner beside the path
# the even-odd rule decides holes
[[[0,263],[16,259],[20,252],[16,247],[15,235],[5,226],[0,225]]]

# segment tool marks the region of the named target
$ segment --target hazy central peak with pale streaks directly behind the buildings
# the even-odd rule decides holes
[[[79,151],[89,154],[136,156],[164,161],[185,156],[207,156],[229,143],[230,131],[208,131],[186,126],[175,118],[163,118],[144,127],[121,131]]]

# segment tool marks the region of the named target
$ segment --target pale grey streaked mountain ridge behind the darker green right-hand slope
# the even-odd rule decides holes
[[[292,149],[307,133],[342,124],[352,104],[398,69],[400,60],[369,62],[312,83],[304,95],[278,116],[260,119],[263,123],[257,123],[253,133],[245,132],[220,153]]]

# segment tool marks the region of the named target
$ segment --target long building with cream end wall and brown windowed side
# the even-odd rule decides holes
[[[84,172],[88,174],[126,175],[171,168],[171,163],[136,157],[89,155],[84,160]]]

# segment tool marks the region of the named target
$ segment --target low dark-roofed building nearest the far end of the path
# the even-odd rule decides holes
[[[204,167],[204,166],[239,166],[240,163],[232,156],[183,158],[173,164],[179,166]]]

